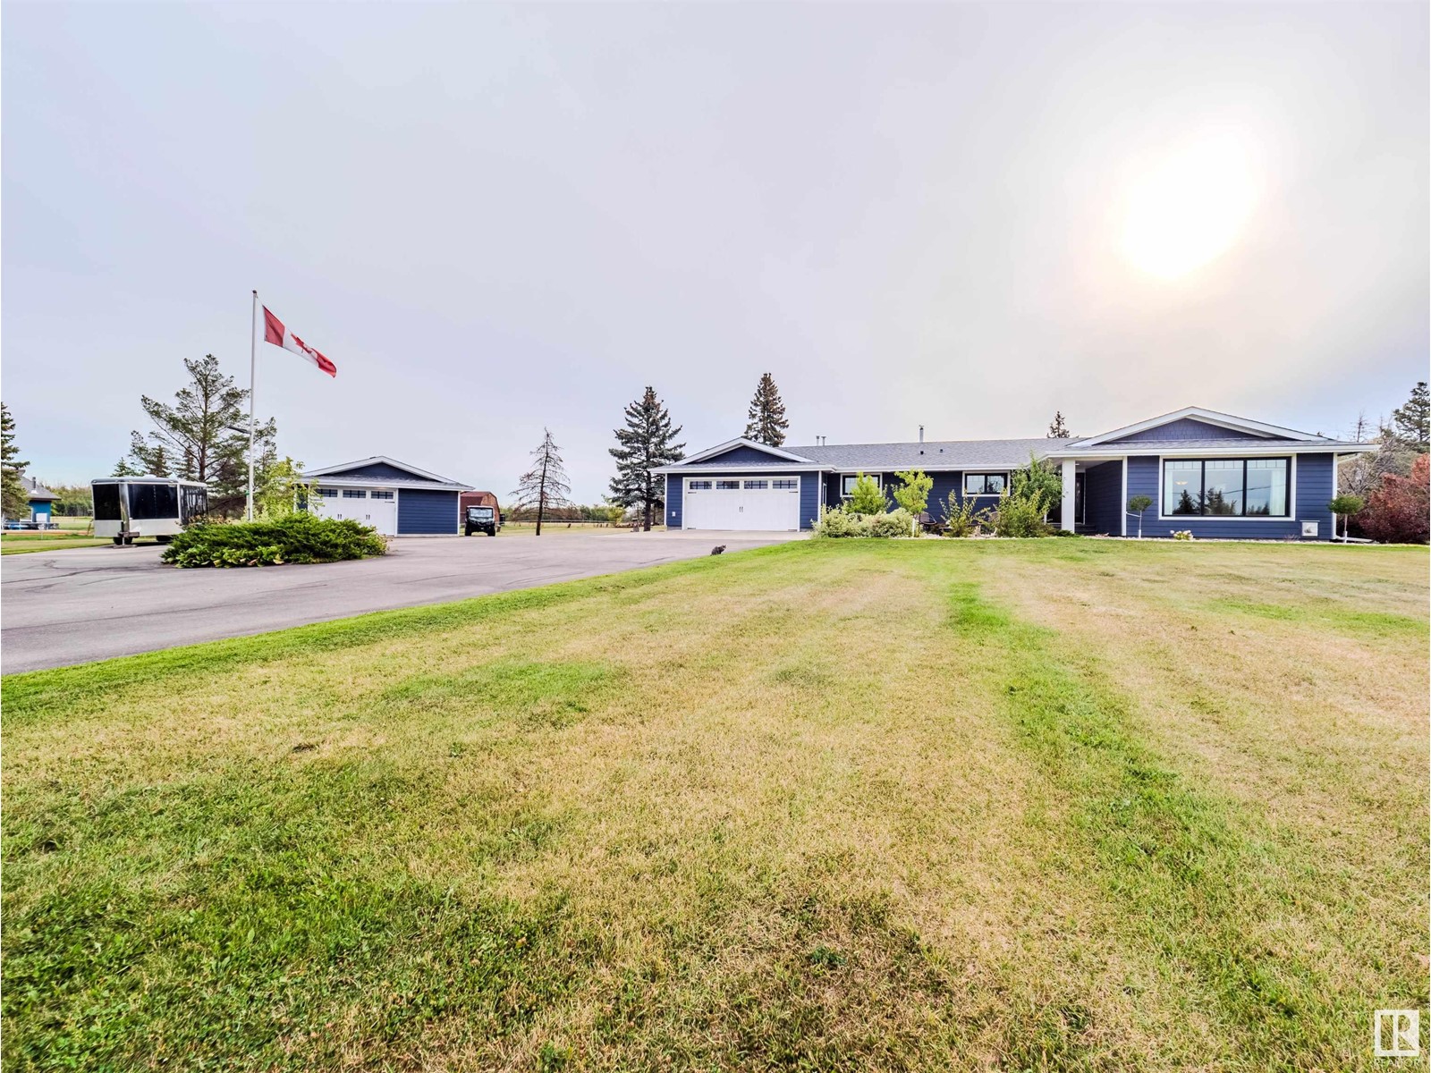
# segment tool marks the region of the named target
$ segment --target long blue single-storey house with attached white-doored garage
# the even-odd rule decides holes
[[[937,519],[959,502],[993,506],[1009,475],[1035,456],[1063,478],[1053,519],[1065,529],[1132,536],[1331,539],[1328,501],[1344,456],[1372,451],[1328,436],[1186,406],[1083,439],[956,439],[771,448],[731,439],[654,472],[665,475],[665,522],[675,529],[810,529],[860,474],[886,488],[896,471],[934,478]],[[1129,514],[1128,501],[1152,506]]]

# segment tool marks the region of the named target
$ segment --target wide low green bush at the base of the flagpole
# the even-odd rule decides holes
[[[160,558],[176,567],[276,567],[384,555],[388,542],[352,519],[289,514],[255,522],[206,522],[175,535]]]

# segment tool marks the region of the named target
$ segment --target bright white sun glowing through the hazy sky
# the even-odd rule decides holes
[[[1123,250],[1143,272],[1186,275],[1236,240],[1255,200],[1252,167],[1236,142],[1189,146],[1133,187]]]

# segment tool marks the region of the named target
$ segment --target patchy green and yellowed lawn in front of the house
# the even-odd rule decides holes
[[[1427,565],[801,542],[9,677],[6,1069],[1371,1067]]]

